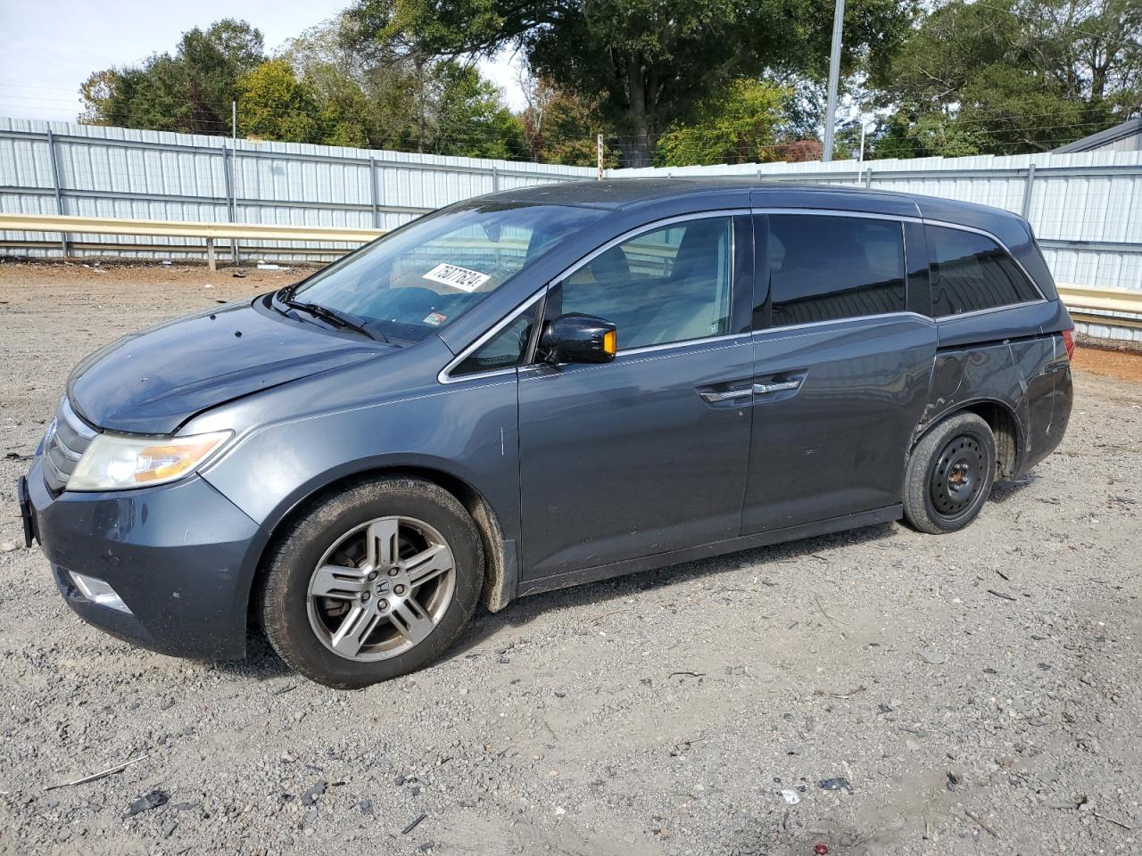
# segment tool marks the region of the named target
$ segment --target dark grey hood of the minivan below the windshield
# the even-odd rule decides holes
[[[99,428],[170,434],[223,402],[394,352],[283,318],[263,300],[176,318],[95,352],[67,381],[72,406]]]

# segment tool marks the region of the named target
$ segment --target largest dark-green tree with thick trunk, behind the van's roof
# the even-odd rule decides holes
[[[844,64],[874,73],[907,32],[912,0],[850,0]],[[823,75],[833,5],[820,0],[357,0],[353,14],[417,50],[490,55],[515,45],[533,73],[597,105],[629,165],[657,135],[738,78]]]

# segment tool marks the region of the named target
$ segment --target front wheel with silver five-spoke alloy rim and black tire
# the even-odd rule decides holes
[[[480,600],[484,557],[464,506],[413,478],[357,482],[271,548],[262,625],[287,664],[341,689],[436,660]]]

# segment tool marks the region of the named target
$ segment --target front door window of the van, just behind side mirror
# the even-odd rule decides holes
[[[709,217],[632,237],[569,276],[557,310],[612,322],[620,350],[727,333],[732,235]]]

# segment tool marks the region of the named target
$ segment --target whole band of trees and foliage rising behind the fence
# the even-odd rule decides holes
[[[1142,112],[1142,0],[847,0],[866,156],[1049,151]],[[820,156],[833,2],[352,0],[274,58],[224,19],[95,72],[81,121],[594,165]],[[912,25],[915,22],[915,26]],[[474,57],[518,49],[515,115]],[[835,156],[855,155],[842,124]]]

